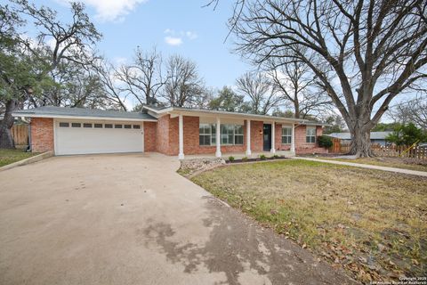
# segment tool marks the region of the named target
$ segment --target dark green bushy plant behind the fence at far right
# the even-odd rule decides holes
[[[427,141],[427,134],[423,132],[423,129],[416,127],[414,123],[409,123],[397,126],[393,133],[389,134],[385,140],[393,142],[396,145],[409,146],[415,142]]]

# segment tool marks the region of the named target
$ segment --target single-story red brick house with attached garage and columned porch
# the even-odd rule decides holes
[[[296,118],[148,106],[142,112],[40,107],[13,116],[31,118],[32,151],[56,155],[157,151],[183,159],[187,154],[326,152],[317,144],[325,124]]]

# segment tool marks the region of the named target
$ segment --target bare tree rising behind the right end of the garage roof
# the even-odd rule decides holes
[[[154,48],[151,52],[144,52],[137,47],[133,63],[123,65],[117,76],[125,82],[122,88],[132,94],[140,104],[152,102],[165,85],[162,77],[162,55]]]

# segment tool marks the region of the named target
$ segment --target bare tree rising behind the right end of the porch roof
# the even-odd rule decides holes
[[[238,92],[250,99],[250,111],[254,114],[265,115],[283,102],[269,77],[264,73],[247,72],[236,81]]]

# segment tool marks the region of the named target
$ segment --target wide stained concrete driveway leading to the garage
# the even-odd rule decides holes
[[[0,172],[0,284],[347,284],[159,154]]]

